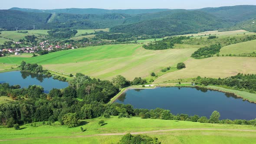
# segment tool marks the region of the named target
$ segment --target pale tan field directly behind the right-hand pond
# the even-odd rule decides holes
[[[160,76],[154,83],[172,79],[201,77],[225,78],[237,73],[256,74],[254,57],[211,57],[207,59],[188,59],[185,69]]]

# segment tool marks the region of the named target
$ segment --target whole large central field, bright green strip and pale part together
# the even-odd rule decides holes
[[[0,62],[20,64],[22,60],[38,63],[47,69],[59,72],[82,72],[100,79],[112,79],[123,75],[132,80],[147,77],[167,66],[187,60],[197,49],[146,50],[142,45],[105,45],[53,52],[32,58],[2,57]]]

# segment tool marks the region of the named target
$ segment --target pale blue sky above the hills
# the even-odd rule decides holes
[[[256,5],[256,0],[1,0],[0,9],[102,8],[102,9],[198,9],[235,5]]]

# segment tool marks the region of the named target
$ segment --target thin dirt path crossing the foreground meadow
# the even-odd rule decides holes
[[[141,132],[130,132],[131,134],[151,134],[158,132],[167,131],[248,131],[256,132],[256,130],[244,130],[244,129],[222,129],[222,128],[179,128],[179,129],[168,129],[168,130],[156,130],[156,131],[141,131]],[[22,141],[22,140],[35,140],[35,139],[48,139],[48,138],[76,138],[76,137],[95,137],[95,136],[110,136],[110,135],[125,135],[125,133],[108,133],[108,134],[92,134],[92,135],[77,135],[77,136],[56,136],[56,137],[31,137],[31,138],[17,138],[17,139],[6,139],[0,141]]]

